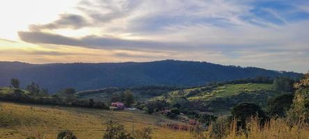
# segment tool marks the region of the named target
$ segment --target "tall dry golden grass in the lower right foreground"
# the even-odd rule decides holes
[[[222,127],[222,126],[221,126]],[[291,125],[285,119],[271,119],[263,126],[260,124],[260,120],[255,117],[251,117],[246,122],[246,129],[239,129],[237,127],[236,120],[232,120],[230,125],[226,128],[216,129],[216,133],[220,133],[221,136],[214,136],[213,124],[209,126],[209,129],[198,135],[198,138],[224,138],[224,139],[308,139],[309,138],[309,126],[305,124],[298,126],[296,124]]]

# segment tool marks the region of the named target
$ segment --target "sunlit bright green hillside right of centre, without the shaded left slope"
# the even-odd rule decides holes
[[[153,99],[173,101],[189,100],[189,108],[216,114],[227,114],[232,106],[241,102],[253,102],[264,108],[267,100],[287,92],[276,92],[269,83],[239,83],[174,90]]]

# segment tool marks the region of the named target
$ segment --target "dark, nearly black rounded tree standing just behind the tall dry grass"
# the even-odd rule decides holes
[[[246,127],[246,120],[251,117],[258,117],[261,123],[267,119],[264,111],[260,106],[253,103],[242,103],[232,108],[232,117],[237,120],[237,126],[244,129]]]

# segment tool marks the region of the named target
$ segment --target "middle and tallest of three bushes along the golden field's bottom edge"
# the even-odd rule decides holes
[[[125,127],[118,122],[109,120],[106,123],[106,131],[103,139],[133,139],[132,136],[125,131]]]

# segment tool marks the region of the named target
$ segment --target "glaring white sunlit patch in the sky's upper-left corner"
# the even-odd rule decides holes
[[[9,0],[0,1],[0,38],[18,40],[17,31],[26,30],[30,24],[52,22],[58,14],[74,12],[75,0]],[[61,4],[60,4],[61,3]]]

